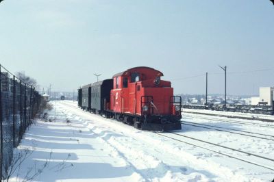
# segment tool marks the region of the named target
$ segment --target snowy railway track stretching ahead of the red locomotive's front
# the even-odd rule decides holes
[[[157,134],[157,135],[161,135],[161,136],[163,136],[165,138],[176,140],[177,142],[183,142],[183,143],[189,144],[191,146],[196,146],[196,147],[199,147],[199,148],[206,149],[207,151],[218,153],[219,155],[224,155],[224,156],[229,157],[229,158],[233,158],[233,159],[237,159],[237,160],[240,160],[240,161],[244,161],[244,162],[246,162],[248,164],[253,164],[255,166],[259,166],[259,167],[266,168],[266,169],[274,171],[274,168],[273,168],[274,165],[268,166],[268,165],[262,164],[264,162],[265,163],[269,163],[269,161],[274,162],[274,159],[271,159],[269,157],[264,157],[264,156],[260,156],[260,155],[256,155],[256,154],[252,154],[252,153],[247,153],[245,151],[240,151],[240,150],[238,150],[236,148],[230,148],[230,147],[227,147],[227,146],[222,146],[222,145],[219,145],[219,144],[214,144],[212,142],[208,142],[208,141],[205,141],[205,140],[200,140],[200,139],[197,139],[197,138],[192,138],[192,137],[189,137],[187,135],[182,135],[182,134],[179,134],[179,133],[173,133],[173,132],[166,132],[166,133],[154,132],[154,133]],[[186,140],[184,140],[182,138],[185,138],[185,139],[190,140],[190,141],[187,142]],[[204,144],[208,144],[209,146],[208,147],[202,146]],[[212,146],[217,146],[219,148],[223,148],[223,149],[225,149],[227,151],[238,153],[238,154],[241,154],[241,155],[243,154],[243,156],[237,157],[236,155],[230,155],[228,153],[221,152],[220,150],[210,149],[210,148],[212,148]],[[251,159],[246,159],[246,158],[250,158],[250,157],[256,158],[256,161],[252,161]],[[260,161],[261,164],[258,161]]]

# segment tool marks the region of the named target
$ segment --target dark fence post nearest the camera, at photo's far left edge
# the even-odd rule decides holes
[[[3,179],[3,109],[2,109],[2,75],[0,64],[0,181]]]

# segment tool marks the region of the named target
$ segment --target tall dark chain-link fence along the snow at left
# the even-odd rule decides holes
[[[12,162],[13,148],[37,114],[41,96],[0,64],[0,181]]]

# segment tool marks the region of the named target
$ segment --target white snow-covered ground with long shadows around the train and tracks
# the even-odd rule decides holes
[[[191,140],[206,140],[274,159],[273,137],[253,138],[193,127],[185,122],[269,135],[273,135],[274,128],[184,114],[183,129],[175,132],[179,135],[158,135],[84,112],[76,107],[77,103],[51,103],[54,109],[48,114],[53,122],[38,120],[14,151],[15,158],[20,153],[26,153],[27,157],[21,157],[21,165],[14,165],[18,168],[11,181],[272,181],[274,178],[274,171],[267,169],[274,168],[274,161]]]

